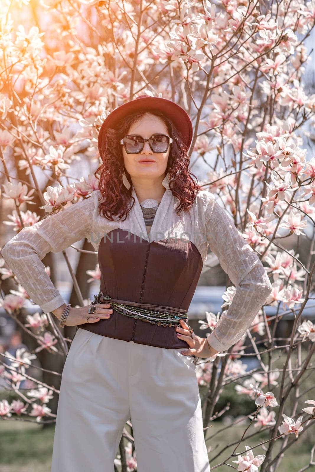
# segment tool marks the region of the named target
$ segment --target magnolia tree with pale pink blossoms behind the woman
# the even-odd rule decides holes
[[[98,188],[93,175],[101,162],[98,129],[120,104],[147,93],[187,110],[194,123],[190,168],[202,172],[199,183],[217,196],[259,254],[273,285],[266,305],[276,312],[268,318],[262,307],[237,345],[211,362],[195,360],[210,465],[279,470],[289,447],[314,434],[315,325],[303,310],[315,269],[315,159],[302,148],[310,135],[302,129],[306,122],[308,129],[313,125],[315,95],[307,96],[302,76],[315,3],[2,3],[1,197],[10,208],[3,224],[11,225],[13,236]],[[83,168],[87,171],[80,177]],[[295,249],[281,243],[290,235],[297,236]],[[301,243],[310,248],[305,261],[299,256]],[[99,279],[95,252],[74,250],[80,260],[88,258],[89,281]],[[62,254],[78,305],[89,304],[67,253]],[[50,274],[50,267],[46,270]],[[56,377],[49,384],[27,372],[33,365],[38,372],[51,371],[53,364],[40,357],[43,353],[64,361],[71,336],[65,336],[51,313],[28,314],[30,296],[3,259],[0,271],[2,308],[35,343],[18,349],[15,357],[5,350],[0,354],[4,391],[16,395],[0,401],[0,416],[54,422],[48,404],[58,397]],[[230,305],[235,291],[228,281],[222,308]],[[293,323],[289,337],[279,343],[276,329],[284,313],[292,314]],[[219,318],[220,313],[205,313],[200,321],[205,336]],[[258,360],[257,368],[247,370],[248,357]],[[243,432],[235,418],[221,423],[224,430],[235,429],[233,442],[222,444],[212,426],[228,410],[224,405],[217,411],[216,405],[230,385],[235,397],[252,402],[252,411],[245,426],[242,422]],[[115,460],[119,471],[136,471],[128,425]],[[313,453],[309,447],[300,471],[315,464]]]

